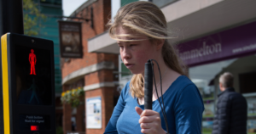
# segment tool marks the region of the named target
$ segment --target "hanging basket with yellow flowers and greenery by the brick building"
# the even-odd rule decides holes
[[[71,91],[61,93],[61,102],[69,103],[73,108],[79,106],[81,100],[84,99],[84,89],[79,87]]]

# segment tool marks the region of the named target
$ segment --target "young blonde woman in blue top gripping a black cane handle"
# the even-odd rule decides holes
[[[172,13],[171,13],[172,14]],[[167,41],[166,18],[150,2],[135,2],[119,8],[109,35],[117,40],[121,59],[134,74],[122,90],[105,133],[164,134],[166,124],[156,92],[160,75],[154,64],[155,86],[152,110],[144,109],[144,64],[155,59],[160,65],[163,98],[170,134],[201,133],[204,106],[195,84],[183,72],[172,45]],[[154,86],[153,86],[154,87]]]

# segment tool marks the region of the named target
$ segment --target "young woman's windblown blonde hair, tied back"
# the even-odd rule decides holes
[[[121,40],[120,36],[132,37],[134,34],[117,35],[115,31],[119,26],[124,27],[126,30],[146,35],[149,39],[165,39],[161,50],[165,64],[172,70],[177,71],[177,73],[185,75],[174,47],[167,40],[171,37],[168,36],[166,17],[154,3],[139,1],[126,4],[124,7],[119,8],[113,21],[109,20],[108,26],[109,35],[119,41],[134,41]],[[132,97],[142,98],[144,96],[143,75],[132,76],[130,92]]]

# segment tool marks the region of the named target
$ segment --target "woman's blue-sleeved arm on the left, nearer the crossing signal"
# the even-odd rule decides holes
[[[129,87],[129,85],[128,85],[128,87]],[[123,90],[119,96],[118,103],[116,104],[116,106],[113,109],[113,114],[112,114],[110,120],[108,121],[108,126],[106,127],[104,134],[118,134],[116,124],[117,124],[117,120],[119,120],[119,115],[123,112],[123,109],[125,108],[124,99],[125,99],[126,90],[127,90],[127,84],[123,88]]]

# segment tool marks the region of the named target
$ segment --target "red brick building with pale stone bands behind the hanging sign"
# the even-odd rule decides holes
[[[92,15],[91,15],[92,12]],[[76,87],[84,87],[84,104],[73,109],[69,104],[63,105],[63,131],[72,131],[72,120],[75,119],[76,131],[86,134],[103,133],[113,112],[114,97],[118,75],[118,55],[112,53],[88,53],[88,39],[101,35],[108,30],[106,24],[111,19],[111,0],[88,0],[76,9],[72,17],[88,19],[82,21],[82,59],[61,59],[63,92]],[[92,18],[91,18],[92,17]],[[117,95],[114,95],[117,94]],[[101,128],[86,129],[86,100],[100,97]],[[74,121],[74,120],[73,120]]]

